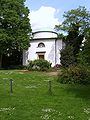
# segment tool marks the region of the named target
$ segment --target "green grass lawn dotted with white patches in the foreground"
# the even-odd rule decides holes
[[[1,70],[0,120],[90,120],[90,86],[59,84],[46,72]]]

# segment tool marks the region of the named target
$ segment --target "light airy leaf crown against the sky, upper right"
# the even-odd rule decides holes
[[[72,25],[77,24],[80,33],[84,33],[90,25],[90,12],[85,7],[79,6],[77,9],[72,9],[65,12],[63,17],[65,20],[61,25],[56,25],[57,30],[71,31]]]

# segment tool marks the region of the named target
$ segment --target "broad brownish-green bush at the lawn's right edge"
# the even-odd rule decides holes
[[[80,65],[63,68],[58,81],[63,84],[90,84],[90,69]]]

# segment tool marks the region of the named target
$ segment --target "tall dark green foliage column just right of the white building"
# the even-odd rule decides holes
[[[64,67],[68,67],[77,62],[77,54],[80,51],[83,40],[83,35],[79,35],[78,29],[77,25],[73,25],[73,29],[69,31],[64,40],[65,48],[61,51],[61,63]]]

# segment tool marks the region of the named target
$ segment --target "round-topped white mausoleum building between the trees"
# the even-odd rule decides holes
[[[27,65],[28,60],[35,59],[45,59],[52,63],[52,67],[60,64],[63,43],[58,39],[58,34],[54,31],[36,31],[32,35],[30,47],[23,51],[23,65]]]

